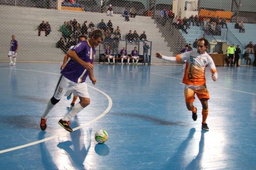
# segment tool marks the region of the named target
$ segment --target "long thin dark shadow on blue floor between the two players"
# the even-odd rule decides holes
[[[165,125],[165,126],[187,126],[187,122],[182,122],[182,121],[166,121],[163,119],[159,119],[157,117],[150,117],[150,116],[145,116],[145,115],[138,115],[138,114],[132,114],[132,113],[109,113],[113,114],[115,116],[128,116],[128,117],[135,117],[136,119],[144,119],[145,121],[150,121],[154,122],[157,124]]]

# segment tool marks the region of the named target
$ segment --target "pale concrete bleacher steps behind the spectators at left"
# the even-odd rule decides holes
[[[150,17],[136,16],[130,18],[130,22],[125,22],[124,17],[120,14],[114,14],[112,17],[106,16],[104,13],[94,12],[76,12],[66,10],[53,10],[42,8],[27,8],[0,5],[1,24],[0,35],[0,60],[8,61],[7,54],[9,51],[9,42],[14,34],[19,43],[17,61],[63,61],[64,52],[61,49],[55,48],[55,44],[62,36],[61,32],[57,31],[64,21],[76,19],[81,25],[85,20],[90,23],[93,21],[95,26],[104,19],[107,23],[109,19],[113,23],[114,29],[119,26],[121,35],[125,35],[129,30],[137,31],[140,35],[143,31],[147,34],[148,41],[152,41],[152,55],[157,51],[161,51],[165,55],[172,55],[167,42],[164,42],[164,37],[161,36],[159,28],[154,24],[154,20]],[[35,31],[37,26],[44,20],[51,25],[52,32],[49,37],[45,37],[45,32],[41,32],[38,36],[38,31]],[[103,48],[103,46],[101,46]],[[119,49],[121,49],[119,45]],[[97,50],[99,47],[97,48]],[[140,48],[139,54],[142,54],[143,48]],[[130,51],[128,51],[130,53]],[[96,59],[98,59],[98,52]],[[163,60],[152,58],[152,63],[161,63]]]

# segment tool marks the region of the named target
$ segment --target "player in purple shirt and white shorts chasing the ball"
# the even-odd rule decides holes
[[[70,58],[66,66],[61,70],[61,77],[56,86],[54,96],[49,100],[45,112],[41,117],[40,128],[44,131],[47,128],[47,116],[64,95],[77,95],[80,102],[75,104],[73,109],[59,120],[59,124],[69,132],[73,132],[70,128],[69,120],[76,116],[83,108],[90,104],[90,96],[85,83],[86,77],[89,76],[93,85],[97,80],[93,75],[93,61],[96,53],[96,47],[104,40],[100,30],[92,32],[91,37],[87,41],[81,41],[67,52]]]

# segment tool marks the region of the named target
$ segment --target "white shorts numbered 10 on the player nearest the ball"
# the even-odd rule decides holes
[[[70,93],[74,96],[90,98],[86,83],[75,83],[68,80],[66,77],[61,75],[59,82],[56,86],[54,97],[60,100],[64,95],[69,96]]]

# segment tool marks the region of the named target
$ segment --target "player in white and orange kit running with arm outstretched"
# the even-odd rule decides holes
[[[204,38],[199,39],[197,43],[197,51],[188,51],[178,54],[175,57],[163,56],[161,53],[156,53],[157,58],[165,59],[174,62],[186,62],[185,72],[182,83],[185,84],[184,94],[187,109],[192,111],[192,119],[197,119],[197,108],[194,107],[195,94],[202,104],[202,129],[209,131],[206,119],[208,116],[208,100],[209,92],[206,88],[205,68],[208,66],[213,81],[216,81],[218,74],[214,65],[213,59],[205,51],[208,48],[208,41]]]

